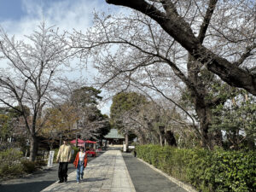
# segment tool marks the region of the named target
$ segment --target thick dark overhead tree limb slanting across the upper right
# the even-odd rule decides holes
[[[136,9],[144,15],[148,15],[172,38],[177,40],[184,49],[187,49],[189,54],[193,55],[196,60],[205,65],[209,71],[217,74],[226,83],[243,88],[256,96],[256,75],[239,67],[240,62],[244,60],[243,57],[238,61],[238,64],[232,63],[224,57],[213,53],[211,49],[207,49],[207,47],[202,44],[207,32],[207,27],[211,23],[213,10],[215,6],[218,6],[218,1],[209,1],[208,9],[201,25],[198,38],[195,37],[191,26],[183,20],[181,15],[177,15],[177,12],[174,9],[175,5],[172,4],[172,1],[161,1],[161,3],[164,3],[166,14],[154,6],[154,3],[159,3],[159,1],[154,1],[154,3],[151,4],[144,0],[106,0],[106,2]],[[247,55],[249,55],[248,51],[244,56],[247,57]]]

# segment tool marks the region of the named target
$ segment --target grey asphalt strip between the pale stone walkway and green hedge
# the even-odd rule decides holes
[[[123,158],[137,192],[187,192],[132,154],[123,153]]]

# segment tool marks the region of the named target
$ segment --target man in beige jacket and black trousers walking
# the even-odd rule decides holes
[[[59,152],[57,154],[57,162],[59,162],[59,183],[67,182],[67,166],[71,160],[71,146],[67,143],[67,139],[63,140]]]

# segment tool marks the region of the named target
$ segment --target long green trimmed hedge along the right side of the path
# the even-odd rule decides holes
[[[199,191],[250,192],[256,188],[256,153],[252,151],[141,145],[137,157]]]

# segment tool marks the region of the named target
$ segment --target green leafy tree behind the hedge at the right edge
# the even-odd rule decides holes
[[[212,130],[224,131],[228,148],[255,149],[255,113],[255,98],[239,91],[236,97],[212,110]]]

